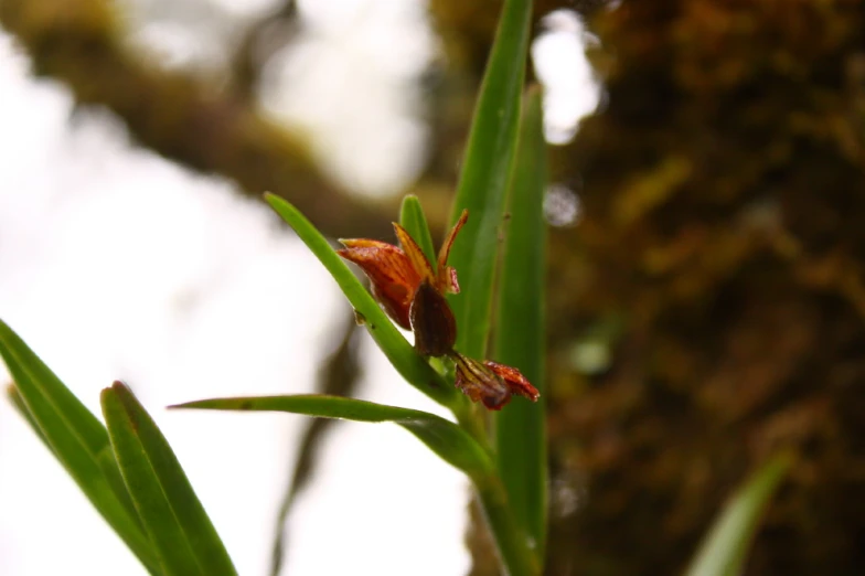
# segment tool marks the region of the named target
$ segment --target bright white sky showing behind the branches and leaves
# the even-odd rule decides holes
[[[435,39],[418,2],[341,3],[346,12],[301,2],[308,34],[300,52],[278,61],[267,104],[317,135],[317,149],[340,178],[366,193],[393,192],[423,160],[426,132],[410,81]],[[254,15],[237,0],[218,4]],[[159,3],[136,6],[152,14]],[[140,40],[168,39],[178,56],[194,45],[183,30],[151,30]],[[566,75],[574,46],[553,51],[564,54]],[[344,106],[345,86],[359,108]],[[71,122],[71,111],[65,89],[30,78],[25,57],[0,33],[0,318],[95,413],[102,387],[128,382],[172,444],[239,573],[264,575],[301,417],[162,407],[309,392],[334,344],[327,339],[337,310],[346,305],[263,203],[140,150],[107,114]],[[438,412],[369,338],[363,351],[362,397]],[[0,366],[0,383],[6,378]],[[343,424],[291,518],[284,573],[466,573],[467,500],[461,474],[408,433]],[[0,574],[143,574],[4,401]]]

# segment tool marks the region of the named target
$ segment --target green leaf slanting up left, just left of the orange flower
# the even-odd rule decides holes
[[[298,237],[337,280],[351,305],[363,316],[364,326],[396,371],[409,384],[439,404],[448,407],[458,406],[459,393],[453,385],[445,382],[399,333],[319,231],[295,206],[281,198],[267,193],[265,200],[295,230]]]

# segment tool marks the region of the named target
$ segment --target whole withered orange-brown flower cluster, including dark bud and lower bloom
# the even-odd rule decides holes
[[[399,246],[374,239],[341,239],[337,253],[370,278],[372,292],[387,316],[415,334],[415,349],[425,356],[447,356],[456,366],[455,385],[473,402],[499,410],[516,394],[536,402],[537,390],[519,370],[492,361],[479,362],[453,350],[457,320],[447,301],[459,294],[457,270],[448,266],[453,241],[469,217],[467,210],[448,233],[435,267],[408,232],[394,223]]]

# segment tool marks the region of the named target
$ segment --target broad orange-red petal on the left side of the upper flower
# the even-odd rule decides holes
[[[366,274],[373,296],[382,309],[406,330],[412,324],[408,310],[420,277],[405,253],[392,244],[373,239],[341,239],[345,248],[337,254],[353,262]]]

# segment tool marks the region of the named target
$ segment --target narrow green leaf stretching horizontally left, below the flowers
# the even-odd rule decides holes
[[[484,479],[493,470],[487,451],[462,428],[435,414],[409,408],[324,394],[213,398],[179,404],[171,408],[288,412],[319,418],[392,422],[414,434],[441,459],[472,479]]]

